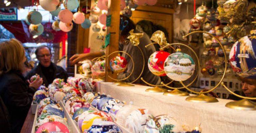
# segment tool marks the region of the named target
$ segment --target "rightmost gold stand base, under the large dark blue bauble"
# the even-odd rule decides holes
[[[228,102],[225,106],[233,109],[240,109],[240,110],[256,110],[256,103],[248,99],[231,101],[231,102]]]

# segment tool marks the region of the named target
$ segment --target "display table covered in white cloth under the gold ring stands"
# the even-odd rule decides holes
[[[145,92],[150,87],[120,87],[108,82],[98,82],[96,92],[112,98],[134,102],[134,105],[149,109],[154,116],[168,114],[181,125],[190,128],[201,123],[202,133],[254,133],[256,111],[236,110],[225,107],[231,100],[218,99],[215,103],[195,103],[187,97],[164,96],[163,93]]]

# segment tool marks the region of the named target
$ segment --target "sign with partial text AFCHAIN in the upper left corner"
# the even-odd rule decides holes
[[[17,8],[0,8],[0,21],[16,21],[17,19]]]

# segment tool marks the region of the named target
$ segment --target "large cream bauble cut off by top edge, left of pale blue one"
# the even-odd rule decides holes
[[[39,0],[40,6],[46,11],[55,11],[59,7],[59,0]]]

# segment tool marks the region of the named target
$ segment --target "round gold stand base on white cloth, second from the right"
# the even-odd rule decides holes
[[[192,102],[201,102],[201,103],[206,103],[206,102],[218,102],[218,100],[214,97],[206,96],[204,94],[199,94],[196,96],[190,96],[186,98],[187,101],[192,101]]]

